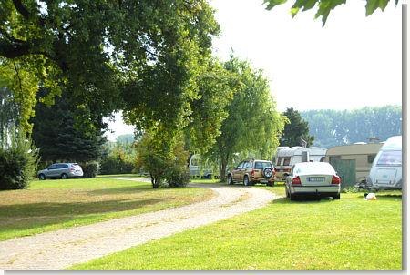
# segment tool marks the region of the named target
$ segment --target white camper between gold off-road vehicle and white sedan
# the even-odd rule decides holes
[[[323,161],[326,155],[325,148],[311,147],[302,148],[279,148],[275,156],[275,170],[277,180],[285,180],[291,171],[293,164],[307,161]]]

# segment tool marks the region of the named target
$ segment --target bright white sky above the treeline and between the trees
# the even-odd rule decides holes
[[[354,109],[401,105],[401,5],[365,16],[365,1],[351,0],[329,15],[314,9],[294,18],[288,4],[265,10],[263,0],[210,0],[221,35],[213,52],[251,61],[270,80],[278,110]],[[399,1],[399,4],[402,1]],[[120,114],[108,139],[132,133]]]

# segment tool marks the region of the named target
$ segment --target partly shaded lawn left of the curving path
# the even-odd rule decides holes
[[[159,188],[112,178],[34,180],[0,191],[0,240],[210,199],[204,188]]]

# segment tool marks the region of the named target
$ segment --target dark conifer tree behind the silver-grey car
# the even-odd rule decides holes
[[[41,91],[38,97],[43,93],[46,91]],[[55,105],[49,107],[38,102],[35,109],[33,140],[40,149],[42,161],[88,162],[101,157],[106,141],[102,131],[93,127],[95,123],[76,126],[77,108],[66,93],[56,97]]]

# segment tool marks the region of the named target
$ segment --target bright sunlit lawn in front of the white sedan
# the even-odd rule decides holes
[[[257,186],[256,188],[266,188]],[[284,195],[282,185],[273,190]],[[151,241],[73,269],[400,270],[400,192],[290,201]]]

